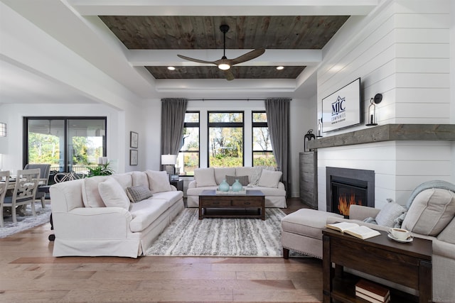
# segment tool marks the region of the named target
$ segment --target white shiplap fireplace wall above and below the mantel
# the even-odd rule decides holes
[[[318,71],[321,99],[361,77],[364,115],[382,93],[378,123],[450,123],[450,3],[448,0],[384,1],[365,18],[350,18],[323,50]],[[453,58],[452,58],[453,59]],[[452,103],[452,104],[451,104]],[[333,136],[364,125],[326,133]],[[319,149],[319,209],[326,209],[326,166],[375,170],[375,206],[386,198],[406,204],[427,180],[454,182],[454,144],[389,141]]]

